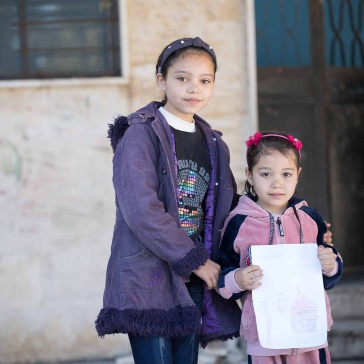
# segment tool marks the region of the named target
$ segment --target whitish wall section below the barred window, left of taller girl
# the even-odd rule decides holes
[[[114,208],[106,123],[125,87],[0,89],[0,362],[116,355],[100,340]]]

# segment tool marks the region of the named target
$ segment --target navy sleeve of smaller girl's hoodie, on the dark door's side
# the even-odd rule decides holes
[[[333,252],[338,255],[337,249],[333,246],[324,243],[324,234],[327,232],[326,223],[322,216],[313,208],[308,206],[302,206],[300,210],[303,210],[308,216],[310,216],[317,224],[317,228],[319,232],[317,233],[317,245],[323,245],[326,248],[331,248]],[[339,256],[336,257],[336,261],[338,262],[339,269],[335,276],[327,277],[323,275],[324,279],[324,288],[326,291],[334,288],[340,281],[343,272],[343,262]]]

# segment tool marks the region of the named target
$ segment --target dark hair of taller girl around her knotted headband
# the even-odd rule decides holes
[[[164,54],[164,52],[168,49],[168,47],[177,42],[177,41],[181,41],[184,39],[191,39],[191,38],[180,38],[180,39],[176,39],[173,40],[172,42],[170,42],[169,44],[166,45],[166,47],[163,49],[163,51],[161,52],[161,54],[158,57],[158,61],[156,64],[156,74],[157,73],[161,73],[163,78],[166,78],[167,76],[167,72],[170,66],[172,66],[178,59],[180,58],[184,58],[187,54],[206,54],[208,55],[208,57],[210,58],[213,66],[214,66],[214,78],[215,78],[215,73],[217,71],[217,63],[216,61],[212,58],[212,56],[203,48],[201,47],[195,47],[194,45],[190,45],[189,47],[185,47],[182,49],[179,49],[175,52],[173,52],[164,62],[163,66],[159,69],[159,66],[161,64],[162,61],[162,56]],[[167,102],[167,95],[164,95],[164,99],[162,100],[162,102]]]

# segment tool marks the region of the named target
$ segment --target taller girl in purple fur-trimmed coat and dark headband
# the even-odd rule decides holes
[[[165,100],[110,125],[116,223],[96,329],[127,333],[137,364],[197,363],[199,340],[239,335],[239,306],[212,290],[236,184],[221,133],[196,115],[215,72],[200,38],[170,43],[156,66]]]

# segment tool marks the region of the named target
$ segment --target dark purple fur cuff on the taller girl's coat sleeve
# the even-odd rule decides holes
[[[171,263],[171,267],[179,276],[189,276],[191,272],[206,263],[208,253],[205,246],[195,242],[195,248],[191,249],[182,259]]]

